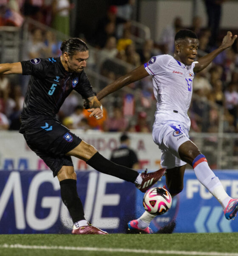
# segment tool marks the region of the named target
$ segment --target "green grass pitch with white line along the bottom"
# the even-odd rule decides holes
[[[238,233],[0,235],[0,256],[238,256]]]

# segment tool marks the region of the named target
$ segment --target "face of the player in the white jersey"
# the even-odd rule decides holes
[[[181,43],[176,45],[178,61],[190,66],[197,56],[198,39],[186,38]]]

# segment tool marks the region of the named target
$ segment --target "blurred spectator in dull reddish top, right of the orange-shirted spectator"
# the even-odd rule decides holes
[[[122,114],[122,109],[114,107],[113,115],[106,119],[104,123],[104,131],[125,131],[127,125],[128,122]]]

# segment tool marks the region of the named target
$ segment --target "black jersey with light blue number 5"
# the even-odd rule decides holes
[[[84,71],[70,73],[58,58],[34,58],[21,61],[23,75],[31,75],[21,114],[20,132],[37,116],[54,117],[65,98],[76,90],[83,98],[95,96]]]

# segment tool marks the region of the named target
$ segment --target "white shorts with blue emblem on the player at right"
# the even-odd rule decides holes
[[[160,164],[163,168],[172,169],[186,164],[178,154],[179,146],[190,140],[188,129],[182,123],[178,121],[154,123],[152,135],[154,143],[159,145],[161,150]]]

